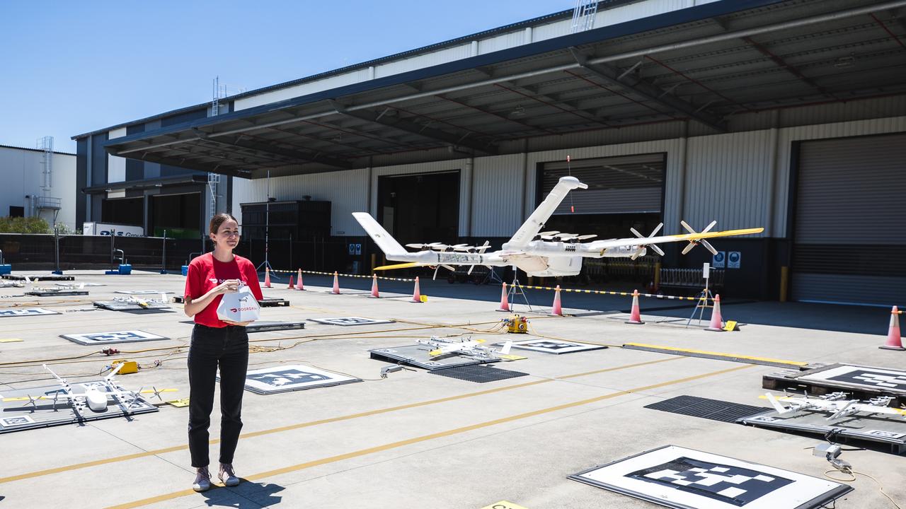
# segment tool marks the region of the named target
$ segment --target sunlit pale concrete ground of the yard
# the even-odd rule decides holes
[[[177,389],[167,393],[168,399],[187,398],[185,357],[191,324],[179,304],[170,312],[92,311],[92,300],[110,299],[115,290],[181,293],[184,278],[66,274],[75,275],[76,283],[105,285],[88,287],[88,297],[26,298],[14,296],[22,289],[0,289],[0,309],[40,305],[62,312],[0,318],[0,340],[23,340],[0,342],[0,393],[53,383],[38,360],[53,364],[70,381],[83,381],[98,378],[82,375],[98,373],[114,359],[60,334],[140,329],[173,339],[115,345],[125,352],[115,358],[138,360],[145,367],[120,376],[120,385]],[[882,367],[902,367],[906,360],[906,352],[877,348],[889,317],[883,310],[728,302],[725,318],[747,325],[742,331],[711,333],[671,320],[689,316],[691,307],[682,303],[678,309],[653,311],[677,303],[643,299],[648,323],[631,326],[622,322],[622,312],[629,307],[624,297],[564,293],[565,311],[579,316],[529,314],[532,331],[614,348],[560,356],[514,351],[527,359],[497,367],[529,376],[485,384],[424,370],[402,370],[381,379],[381,368],[388,364],[371,360],[369,349],[412,344],[432,334],[506,340],[506,334],[496,331],[506,316],[494,311],[499,287],[426,281],[421,288],[429,300],[416,304],[407,302],[411,283],[381,282],[383,295],[377,300],[364,296],[369,280],[343,278],[347,290],[341,295],[326,292],[328,281],[306,277],[305,292],[285,289],[285,280],[275,284],[265,295],[288,299],[292,305],[265,308],[262,319],[355,315],[396,322],[362,327],[308,322],[304,331],[251,336],[251,367],[304,363],[364,381],[270,396],[246,392],[245,427],[235,459],[236,473],[246,482],[193,493],[188,409],[163,405],[159,412],[135,416],[131,422],[110,418],[81,427],[0,435],[0,505],[478,509],[506,507],[495,505],[506,500],[529,509],[653,507],[567,476],[668,444],[818,477],[829,465],[808,449],[818,437],[643,408],[679,395],[766,405],[758,399],[764,392],[761,377],[777,368],[624,350],[619,345],[644,342]],[[551,296],[530,291],[530,299],[543,306],[550,305]],[[214,411],[212,438],[219,432],[217,405]],[[217,458],[217,444],[211,454]],[[895,500],[906,501],[901,456],[875,448],[848,451],[843,457],[855,470],[874,476]],[[860,475],[851,484],[855,491],[837,507],[893,507],[871,479]]]

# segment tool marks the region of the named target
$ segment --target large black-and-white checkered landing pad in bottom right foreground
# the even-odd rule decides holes
[[[676,509],[813,509],[853,490],[811,475],[676,446],[569,478]]]

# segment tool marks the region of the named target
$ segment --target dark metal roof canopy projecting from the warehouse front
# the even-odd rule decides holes
[[[111,139],[244,178],[516,153],[509,141],[906,91],[906,0],[723,0]],[[502,144],[506,148],[502,149]]]

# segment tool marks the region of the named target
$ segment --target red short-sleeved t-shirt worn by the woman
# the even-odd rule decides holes
[[[260,301],[264,298],[261,293],[261,285],[258,284],[255,265],[237,255],[233,255],[232,262],[220,262],[214,258],[212,253],[197,256],[192,263],[188,264],[185,296],[192,300],[198,299],[217,284],[228,279],[238,279],[242,284],[248,285],[249,290],[255,295],[255,299]],[[217,295],[210,303],[207,303],[205,309],[196,313],[195,322],[208,327],[226,327],[228,323],[217,318],[217,306],[220,305],[221,299],[223,299],[223,295]]]

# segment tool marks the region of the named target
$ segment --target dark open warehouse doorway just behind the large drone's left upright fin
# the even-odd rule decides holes
[[[400,244],[459,236],[459,170],[378,178],[378,222]]]

